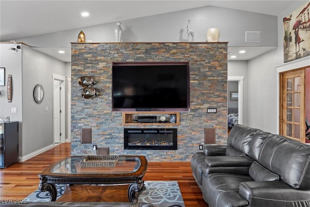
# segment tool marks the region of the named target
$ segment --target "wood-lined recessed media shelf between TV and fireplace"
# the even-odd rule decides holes
[[[164,116],[165,121],[160,120]],[[174,116],[175,123],[171,123],[171,117]],[[143,120],[143,118],[146,118]],[[176,126],[180,124],[180,112],[173,111],[126,111],[123,112],[123,125],[168,125]]]

